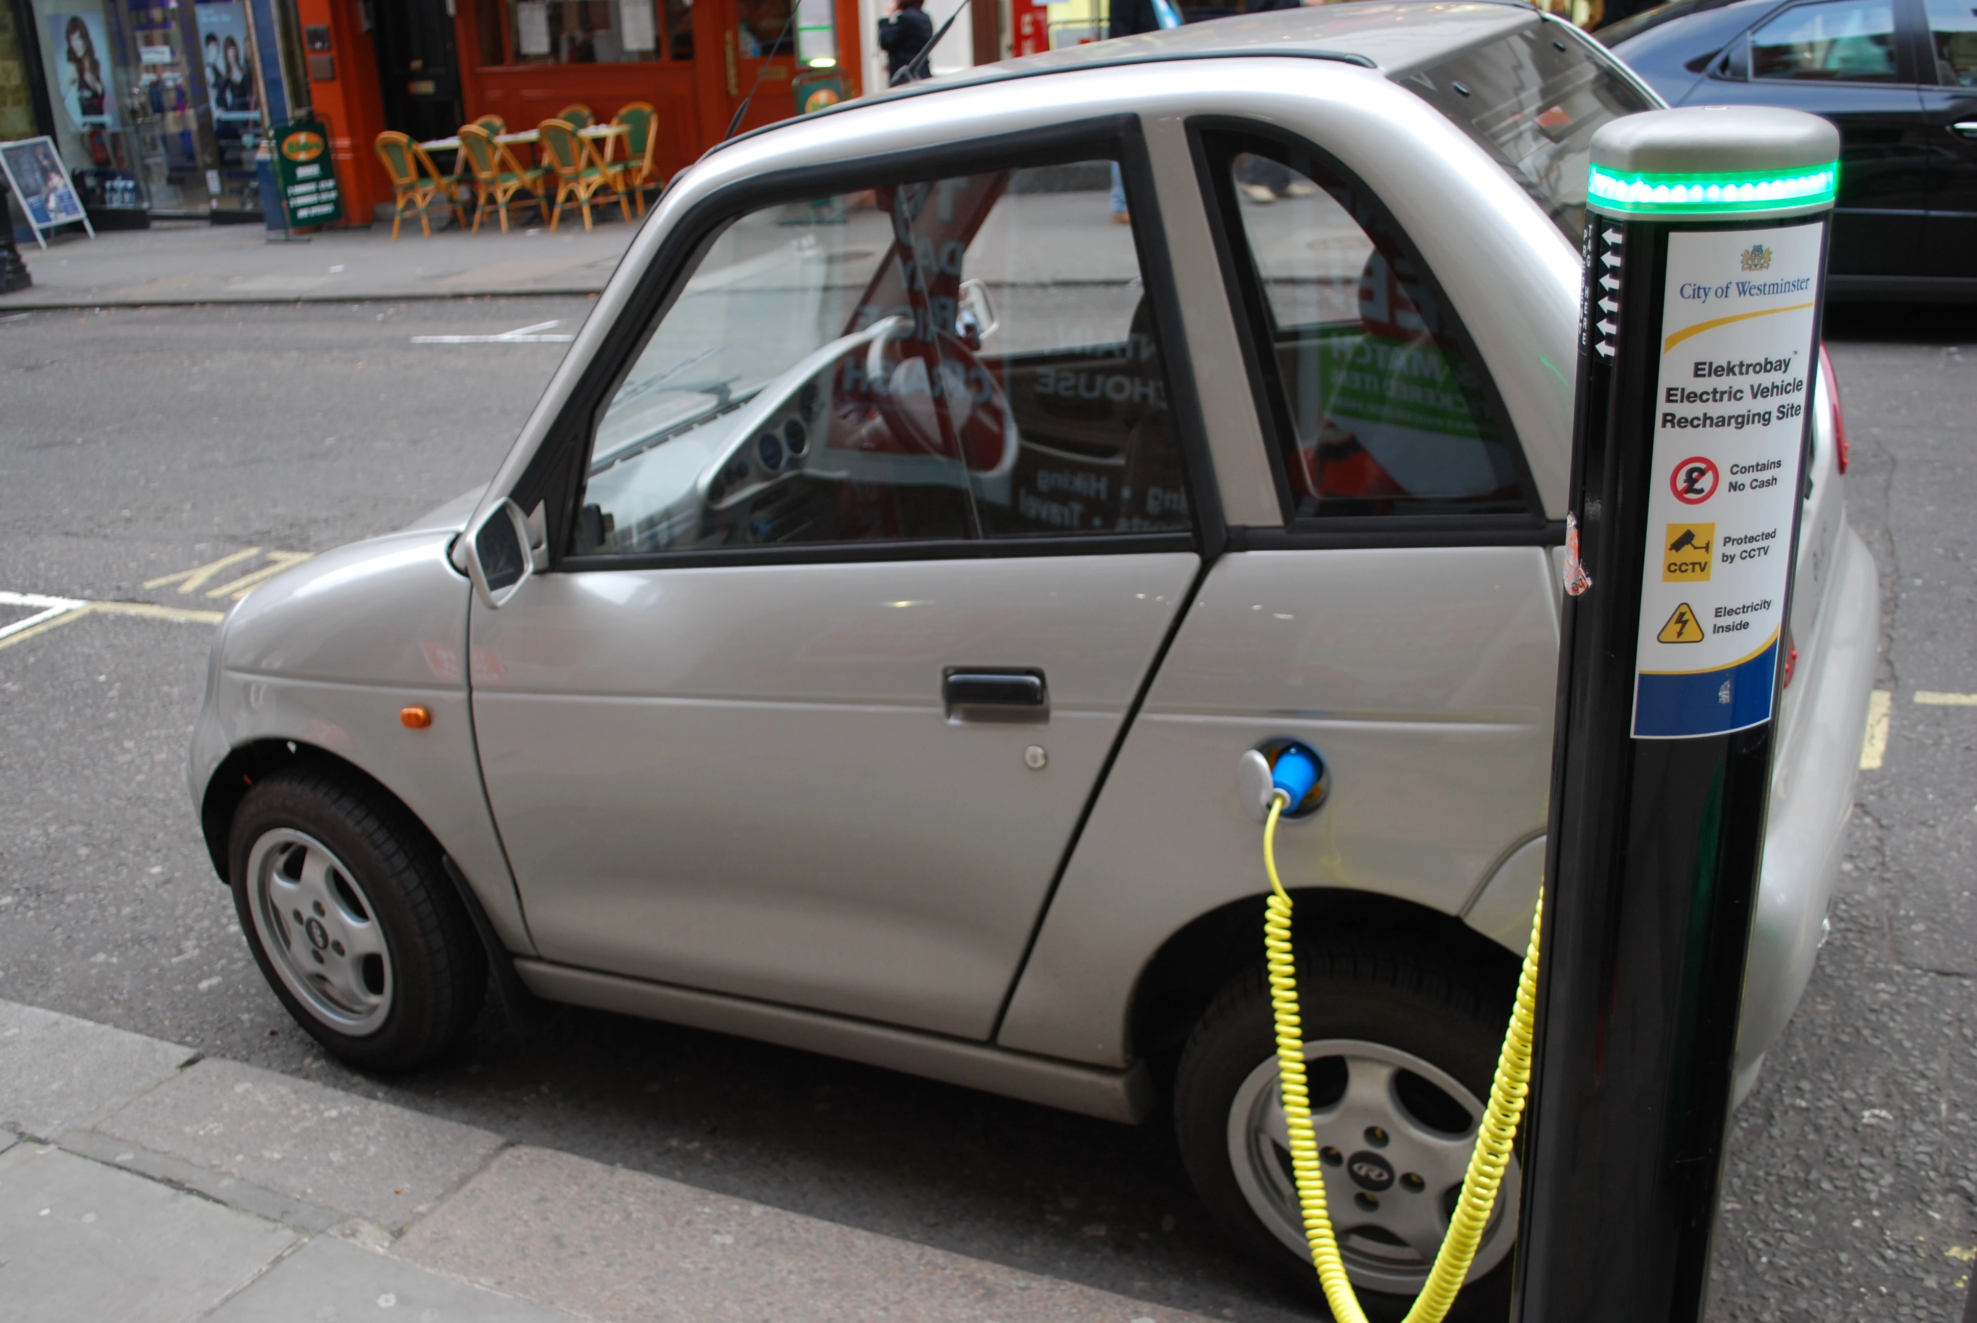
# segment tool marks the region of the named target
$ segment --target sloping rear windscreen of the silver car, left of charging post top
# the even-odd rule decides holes
[[[1400,79],[1510,172],[1578,247],[1599,125],[1653,103],[1554,24],[1532,24]]]

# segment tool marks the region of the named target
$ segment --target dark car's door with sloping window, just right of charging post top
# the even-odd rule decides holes
[[[1902,0],[1811,0],[1756,24],[1682,105],[1781,105],[1841,131],[1835,277],[1918,275],[1928,208],[1922,93]]]

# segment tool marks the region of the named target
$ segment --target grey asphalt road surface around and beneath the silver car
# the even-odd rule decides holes
[[[0,307],[0,589],[217,611],[275,552],[395,528],[484,481],[561,356],[411,336],[567,332],[585,310]],[[1829,324],[1852,522],[1888,603],[1890,740],[1860,779],[1833,939],[1738,1115],[1712,1319],[1961,1311],[1977,708],[1914,692],[1977,692],[1969,324]],[[0,627],[26,613],[0,607]],[[488,1016],[417,1078],[344,1072],[263,987],[196,833],[184,744],[208,643],[200,621],[93,615],[0,647],[0,997],[1176,1307],[1309,1317],[1220,1242],[1160,1117],[1129,1129],[573,1009],[528,1028]]]

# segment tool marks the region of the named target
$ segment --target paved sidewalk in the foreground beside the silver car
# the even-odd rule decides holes
[[[0,1001],[20,1323],[1188,1323]]]

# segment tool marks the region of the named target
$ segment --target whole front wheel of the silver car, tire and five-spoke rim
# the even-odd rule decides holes
[[[439,846],[389,795],[283,769],[233,815],[233,908],[269,987],[324,1048],[395,1072],[473,1024],[486,953]]]

